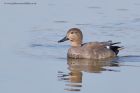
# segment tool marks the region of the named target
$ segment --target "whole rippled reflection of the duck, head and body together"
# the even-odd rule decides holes
[[[117,71],[113,69],[106,69],[105,66],[115,66],[118,67],[119,63],[115,62],[113,59],[106,60],[91,60],[91,59],[67,59],[69,73],[59,71],[59,80],[66,81],[66,86],[64,90],[67,91],[80,91],[82,87],[82,75],[83,72],[88,73],[101,73],[102,71]]]

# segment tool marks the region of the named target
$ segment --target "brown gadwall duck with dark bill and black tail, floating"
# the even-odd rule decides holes
[[[71,28],[66,36],[58,42],[64,42],[69,40],[71,42],[71,48],[69,48],[67,56],[68,58],[87,58],[87,59],[106,59],[116,57],[119,50],[122,49],[120,42],[113,43],[107,42],[88,42],[83,43],[83,34],[78,28]]]

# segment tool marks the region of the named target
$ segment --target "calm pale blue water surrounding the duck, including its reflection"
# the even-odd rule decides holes
[[[139,93],[139,0],[0,1],[1,93]],[[11,4],[10,4],[11,3]],[[13,4],[12,4],[13,3]],[[116,59],[67,59],[71,27],[84,42],[122,42]]]

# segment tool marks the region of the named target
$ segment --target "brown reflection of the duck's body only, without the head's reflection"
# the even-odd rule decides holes
[[[91,59],[68,59],[68,69],[70,71],[84,71],[88,73],[101,73],[102,71],[116,71],[113,69],[105,69],[105,66],[119,66],[118,62],[113,59],[91,60]]]

